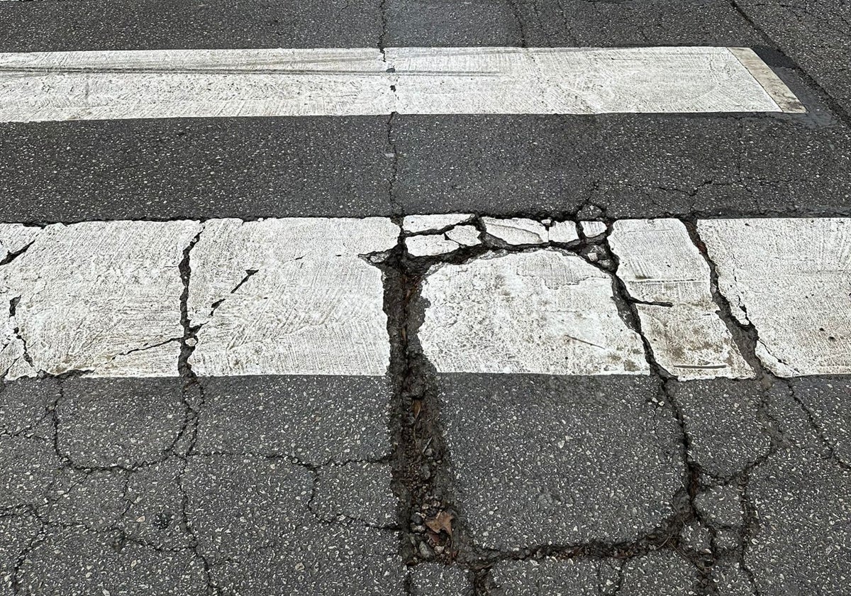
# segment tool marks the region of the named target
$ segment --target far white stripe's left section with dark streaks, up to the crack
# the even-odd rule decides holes
[[[0,54],[0,120],[386,114],[378,49]]]

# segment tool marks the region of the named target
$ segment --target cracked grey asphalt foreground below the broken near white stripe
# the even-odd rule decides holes
[[[433,395],[403,422],[416,428],[413,451],[395,456],[387,414],[410,396],[382,378],[3,383],[0,572],[31,594],[89,593],[94,581],[99,592],[153,585],[175,596],[266,593],[260,582],[400,593],[394,514],[419,520],[403,523],[413,569],[435,553],[414,555],[408,541],[427,543],[420,511],[434,510],[386,499],[398,457],[394,485],[454,515],[445,568],[481,569],[480,580],[507,581],[500,565],[537,559],[538,584],[593,587],[597,573],[578,576],[575,564],[626,559],[637,571],[624,585],[651,596],[686,588],[654,590],[642,576],[684,566],[688,588],[695,570],[745,560],[761,593],[844,593],[851,376],[669,381],[664,391],[649,375],[420,381]],[[297,573],[293,561],[315,552],[332,553],[334,573]],[[654,553],[668,559],[643,559]]]

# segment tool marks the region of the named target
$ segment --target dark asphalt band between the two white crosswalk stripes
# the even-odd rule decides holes
[[[4,123],[0,156],[9,222],[851,214],[851,131],[812,115]]]

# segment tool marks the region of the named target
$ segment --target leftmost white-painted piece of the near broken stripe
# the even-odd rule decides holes
[[[177,375],[180,347],[167,359],[157,346],[184,335],[178,266],[198,229],[195,221],[89,221],[37,232],[0,266],[0,296],[7,308],[15,302],[14,318],[3,321],[0,373]]]

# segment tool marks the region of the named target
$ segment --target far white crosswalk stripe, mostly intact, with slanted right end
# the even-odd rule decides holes
[[[801,111],[795,101],[756,54],[728,48],[0,54],[0,121],[9,122],[391,112]]]

